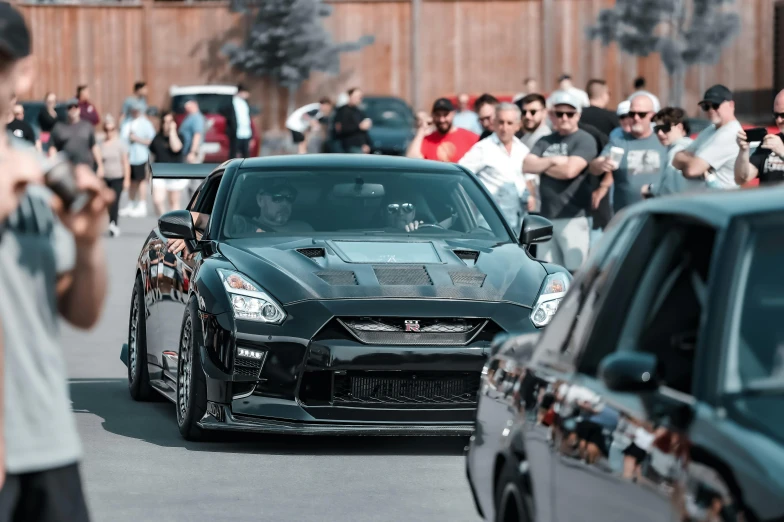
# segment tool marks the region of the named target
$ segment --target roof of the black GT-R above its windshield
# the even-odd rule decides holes
[[[239,168],[364,168],[401,169],[420,172],[464,172],[454,163],[405,158],[402,156],[382,156],[376,154],[291,154],[267,156],[241,160]]]

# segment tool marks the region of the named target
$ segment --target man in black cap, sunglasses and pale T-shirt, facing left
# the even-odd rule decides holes
[[[742,130],[735,118],[732,91],[724,85],[714,85],[700,102],[713,125],[705,128],[686,150],[677,153],[672,166],[689,179],[704,180],[706,187],[735,189],[735,159],[740,146],[738,132]]]

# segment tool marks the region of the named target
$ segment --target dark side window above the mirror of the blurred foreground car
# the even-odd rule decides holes
[[[619,279],[631,291],[614,295],[614,309],[597,320],[600,335],[590,339],[580,371],[595,375],[601,360],[616,350],[643,351],[656,354],[664,385],[692,393],[716,231],[674,216],[656,216],[651,225],[652,241],[635,245],[629,259],[639,266]]]

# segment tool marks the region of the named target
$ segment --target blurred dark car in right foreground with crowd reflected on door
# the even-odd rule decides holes
[[[782,188],[619,214],[547,329],[493,348],[480,514],[784,520],[783,227]]]

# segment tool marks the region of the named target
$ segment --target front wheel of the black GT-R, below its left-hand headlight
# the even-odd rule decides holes
[[[201,365],[200,322],[195,317],[194,301],[188,304],[180,330],[180,352],[177,361],[177,426],[185,440],[204,440],[205,430],[197,424],[207,411],[207,376]]]

